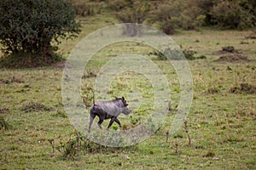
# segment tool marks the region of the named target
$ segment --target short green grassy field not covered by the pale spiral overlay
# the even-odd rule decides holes
[[[101,15],[81,20],[82,33],[73,41],[63,42],[60,53],[67,58],[84,36],[115,22]],[[56,65],[32,69],[1,68],[0,168],[254,169],[256,40],[245,38],[251,33],[202,28],[198,31],[179,31],[172,36],[182,49],[195,50],[195,55],[207,57],[189,60],[194,99],[187,123],[167,140],[166,132],[175,114],[170,111],[166,124],[153,136],[125,148],[108,148],[86,141],[79,146],[76,154],[61,150],[61,144],[67,147],[68,141],[78,136],[61,103],[62,68]],[[221,52],[225,46],[233,46],[237,52]],[[88,88],[93,86],[100,67],[119,53],[119,49],[143,54],[161,68],[170,83],[171,107],[174,110],[180,89],[172,66],[168,61],[148,56],[152,49],[132,42],[103,48],[91,59],[84,71],[82,94],[90,94]],[[236,55],[247,58],[237,60]],[[221,56],[225,57],[219,59]],[[144,103],[131,116],[120,118],[124,125],[122,128],[135,127],[143,122],[152,104],[151,87],[141,75],[123,73],[108,89],[111,96],[126,96],[135,89],[143,94]],[[129,98],[129,95],[128,100],[131,107],[137,101],[132,96]],[[103,126],[107,125],[108,121],[105,121]],[[87,122],[84,122],[84,126],[87,126]]]

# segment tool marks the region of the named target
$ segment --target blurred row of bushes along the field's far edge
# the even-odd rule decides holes
[[[167,34],[177,28],[217,26],[224,29],[246,29],[256,26],[254,0],[71,0],[74,4],[91,4],[107,9],[120,22],[158,26]],[[102,5],[105,3],[105,5]],[[86,10],[84,6],[84,10]],[[96,10],[96,8],[94,8]],[[99,10],[99,9],[98,9]],[[89,13],[90,14],[90,13]]]

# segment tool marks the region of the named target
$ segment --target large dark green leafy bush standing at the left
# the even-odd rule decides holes
[[[65,0],[1,0],[0,42],[5,54],[53,57],[51,42],[79,33],[71,3]],[[40,55],[38,55],[40,54]]]

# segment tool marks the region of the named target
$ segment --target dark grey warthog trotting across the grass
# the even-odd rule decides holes
[[[128,115],[131,113],[131,110],[127,108],[127,103],[124,97],[110,100],[110,101],[98,101],[90,107],[90,122],[89,122],[89,133],[91,124],[96,116],[100,118],[98,126],[102,128],[102,122],[104,119],[111,119],[108,124],[109,127],[112,126],[113,122],[117,122],[119,127],[121,123],[117,118],[121,113]]]

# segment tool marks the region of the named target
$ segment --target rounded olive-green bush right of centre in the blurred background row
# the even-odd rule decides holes
[[[157,23],[166,34],[174,33],[175,29],[195,29],[201,26],[205,15],[196,5],[196,0],[163,0],[151,11],[151,22]]]

